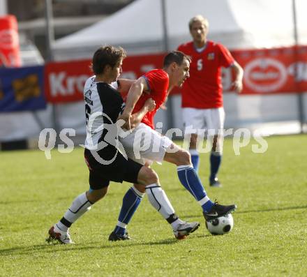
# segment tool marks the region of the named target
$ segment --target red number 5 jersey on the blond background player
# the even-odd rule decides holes
[[[202,52],[197,52],[193,42],[182,44],[178,50],[192,58],[190,77],[181,89],[182,107],[212,109],[223,107],[221,67],[234,63],[232,54],[219,43],[207,40]]]

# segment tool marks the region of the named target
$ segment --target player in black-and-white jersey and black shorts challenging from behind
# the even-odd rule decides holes
[[[57,240],[62,244],[73,244],[69,228],[91,206],[107,193],[110,181],[121,183],[128,181],[139,184],[140,188],[149,187],[147,195],[153,207],[172,226],[177,239],[183,239],[197,230],[199,223],[186,223],[175,214],[172,204],[160,187],[158,176],[151,168],[126,159],[117,140],[117,125],[114,124],[123,107],[119,91],[111,84],[121,73],[121,64],[126,57],[119,47],[100,47],[93,54],[92,69],[95,75],[84,85],[85,116],[87,119],[87,138],[85,140],[84,158],[89,167],[89,190],[75,198],[63,218],[49,230],[47,241]],[[153,100],[144,103],[142,109],[133,114],[134,124],[140,122],[144,114],[155,107]],[[129,190],[126,202],[131,205],[135,195],[140,196],[137,188]],[[116,235],[114,240],[128,239],[128,234]]]

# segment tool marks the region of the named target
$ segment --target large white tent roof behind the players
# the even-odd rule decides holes
[[[306,0],[297,1],[299,43],[307,44]],[[282,4],[281,4],[282,2]],[[57,60],[89,58],[103,44],[121,45],[129,54],[163,52],[162,2],[136,0],[114,15],[57,40]],[[209,20],[211,40],[230,49],[294,44],[292,0],[165,0],[170,50],[190,40],[188,20]]]

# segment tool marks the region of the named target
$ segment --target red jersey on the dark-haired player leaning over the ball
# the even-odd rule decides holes
[[[153,69],[143,75],[147,82],[147,86],[149,87],[149,93],[143,92],[137,103],[135,104],[135,108],[133,110],[133,114],[138,112],[144,106],[144,103],[147,99],[152,98],[156,102],[155,110],[151,112],[147,112],[142,119],[142,122],[148,125],[149,127],[154,129],[153,126],[153,117],[155,116],[158,108],[165,101],[167,96],[168,82],[169,77],[168,74],[162,69]]]

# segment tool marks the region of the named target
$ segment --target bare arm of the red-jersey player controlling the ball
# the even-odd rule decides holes
[[[137,79],[136,82],[131,85],[127,96],[126,107],[123,110],[123,114],[121,114],[121,119],[126,121],[126,123],[123,125],[123,128],[130,130],[130,117],[135,107],[135,104],[137,103],[137,100],[139,100],[143,91],[147,90],[149,90],[149,88],[144,77],[140,77],[139,79]]]

